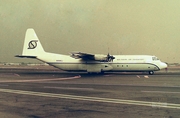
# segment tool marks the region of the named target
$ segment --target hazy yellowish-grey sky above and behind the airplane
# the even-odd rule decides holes
[[[27,28],[47,52],[156,55],[180,62],[180,0],[0,0],[0,62],[21,54]]]

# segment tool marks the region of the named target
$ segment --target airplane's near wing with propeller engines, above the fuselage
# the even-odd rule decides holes
[[[82,59],[85,61],[106,61],[110,62],[115,59],[115,57],[111,55],[104,55],[104,54],[91,54],[91,53],[83,53],[83,52],[72,52],[71,57],[75,59]]]

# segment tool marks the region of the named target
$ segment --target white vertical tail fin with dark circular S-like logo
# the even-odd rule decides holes
[[[36,36],[34,29],[27,29],[26,36],[24,40],[24,47],[22,52],[22,57],[37,57],[43,54],[45,51]]]

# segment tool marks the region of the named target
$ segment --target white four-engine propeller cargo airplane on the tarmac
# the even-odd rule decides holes
[[[84,52],[71,52],[70,55],[44,51],[34,29],[27,29],[20,58],[33,58],[64,71],[104,72],[148,72],[167,68],[156,56],[151,55],[104,55]]]

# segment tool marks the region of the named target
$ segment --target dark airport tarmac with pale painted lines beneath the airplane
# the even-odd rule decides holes
[[[147,73],[68,73],[0,66],[2,118],[179,118],[180,67]]]

